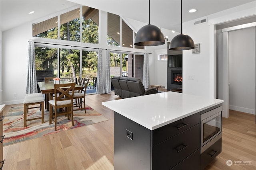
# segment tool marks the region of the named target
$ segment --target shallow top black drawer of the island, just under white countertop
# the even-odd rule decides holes
[[[155,146],[158,143],[193,127],[194,125],[197,125],[198,123],[200,123],[200,112],[155,129],[153,130],[152,145]]]

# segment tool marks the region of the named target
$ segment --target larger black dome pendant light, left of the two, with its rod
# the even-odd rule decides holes
[[[150,24],[150,0],[148,0],[148,25],[141,27],[137,32],[134,45],[138,46],[156,46],[165,44],[164,34],[161,30]]]

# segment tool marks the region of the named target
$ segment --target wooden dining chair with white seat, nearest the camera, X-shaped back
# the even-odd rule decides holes
[[[55,98],[49,101],[50,104],[50,124],[54,121],[54,130],[57,129],[57,116],[67,115],[68,120],[71,118],[72,126],[74,126],[73,119],[73,96],[74,88],[76,83],[66,83],[66,84],[54,84],[54,94]],[[58,95],[57,95],[58,94]],[[64,111],[62,108],[65,108]],[[54,109],[54,113],[53,113]],[[60,112],[57,112],[61,110]]]

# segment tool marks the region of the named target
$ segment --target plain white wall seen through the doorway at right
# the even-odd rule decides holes
[[[255,27],[230,31],[229,109],[255,114]]]

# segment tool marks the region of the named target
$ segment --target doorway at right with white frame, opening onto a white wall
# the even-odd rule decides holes
[[[218,98],[224,100],[223,117],[228,117],[229,109],[255,114],[256,95],[252,94],[255,94],[256,86],[256,25],[244,26],[242,29],[241,25],[222,29],[223,59],[218,56]],[[218,42],[218,51],[221,51],[221,43]],[[242,81],[243,77],[248,81]]]

